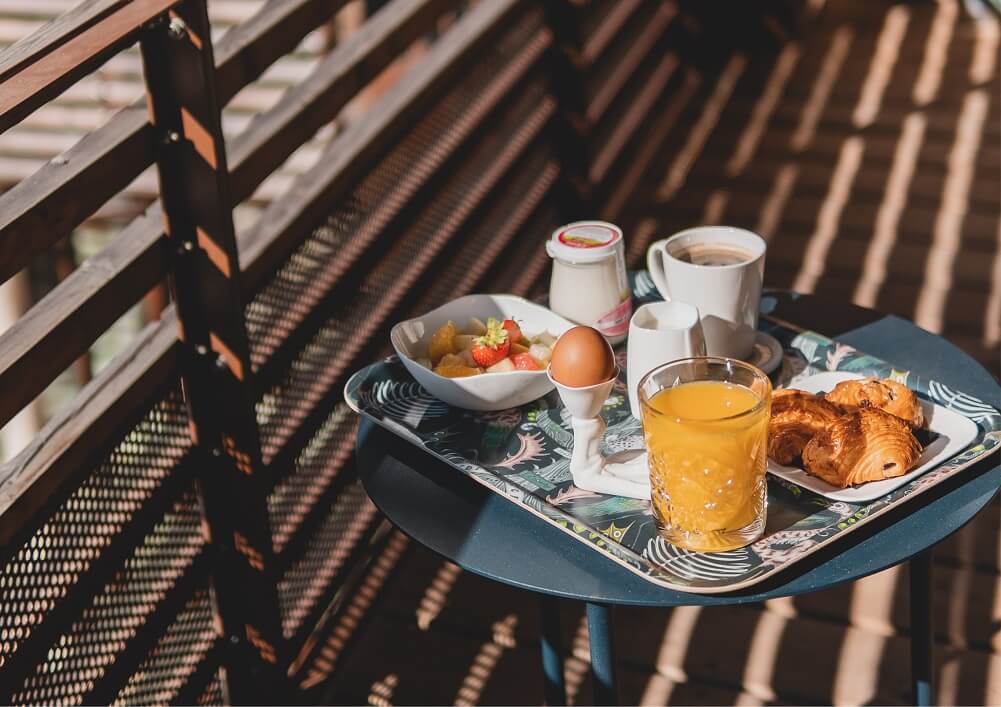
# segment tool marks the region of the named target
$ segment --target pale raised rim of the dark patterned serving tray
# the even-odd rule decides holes
[[[820,334],[820,333],[817,333],[815,331],[811,331],[811,330],[808,330],[808,329],[804,329],[804,328],[799,327],[799,326],[791,326],[787,322],[782,322],[780,325],[788,327],[790,330],[796,332],[798,335],[809,334],[810,336],[812,336],[812,337],[814,337],[816,339],[822,340],[822,341],[837,342],[837,339],[833,339],[833,338],[830,338],[828,336],[824,336],[823,334]],[[864,351],[859,351],[859,352],[860,354],[865,354]],[[868,355],[866,355],[866,356],[868,356]],[[888,362],[885,362],[885,361],[883,361],[881,359],[878,359],[876,357],[871,357],[871,358],[873,358],[874,360],[879,361],[879,362],[881,362],[881,363],[883,363],[883,364],[885,364],[887,366],[891,366],[892,367],[892,365],[889,364]],[[562,521],[564,521],[564,523],[561,523],[561,522],[559,522],[557,520],[556,517],[554,517],[554,516],[548,516],[545,513],[541,512],[540,510],[534,508],[533,506],[531,506],[531,505],[529,505],[527,503],[523,503],[520,500],[517,500],[517,499],[523,498],[525,495],[532,495],[531,492],[527,492],[525,489],[523,489],[523,488],[521,488],[521,487],[519,487],[519,486],[517,486],[515,484],[512,484],[510,481],[508,481],[504,477],[502,477],[502,476],[499,476],[497,474],[494,474],[490,470],[488,470],[488,469],[486,469],[484,467],[481,467],[480,465],[474,464],[472,462],[466,462],[465,464],[469,468],[471,468],[471,469],[478,470],[479,473],[478,474],[469,473],[465,469],[462,469],[462,468],[458,467],[455,464],[454,460],[450,460],[446,456],[441,455],[441,454],[437,453],[436,451],[434,451],[434,450],[428,448],[427,446],[425,446],[423,444],[423,441],[419,437],[417,437],[416,435],[414,435],[412,432],[410,432],[409,430],[407,430],[405,427],[403,427],[401,425],[398,425],[397,423],[395,423],[395,421],[393,421],[391,419],[380,419],[380,418],[377,418],[377,417],[375,417],[373,415],[370,415],[369,413],[365,412],[364,410],[360,410],[355,405],[355,401],[352,400],[348,396],[348,391],[352,388],[352,385],[354,384],[354,382],[355,382],[356,379],[358,379],[359,377],[366,376],[370,370],[372,370],[372,369],[374,369],[376,367],[379,367],[379,366],[383,366],[388,361],[390,361],[390,360],[384,360],[382,362],[377,362],[377,363],[370,364],[370,365],[364,367],[363,369],[355,372],[347,380],[347,382],[344,385],[343,399],[344,399],[344,402],[347,404],[347,406],[352,411],[354,411],[355,413],[357,413],[359,415],[364,416],[365,418],[367,418],[368,420],[372,421],[373,423],[375,423],[379,427],[381,427],[381,428],[383,428],[383,429],[391,432],[392,434],[396,435],[397,437],[400,437],[403,440],[409,442],[411,445],[413,445],[414,447],[416,447],[420,451],[422,451],[422,452],[424,452],[426,454],[429,454],[431,457],[433,457],[433,458],[435,458],[437,460],[440,460],[441,462],[445,463],[449,467],[452,467],[457,472],[463,474],[465,477],[471,478],[477,484],[479,484],[480,486],[483,486],[483,487],[487,488],[492,493],[494,493],[494,494],[496,494],[498,496],[502,496],[503,498],[507,499],[511,503],[515,503],[521,509],[523,509],[523,510],[531,513],[532,515],[534,515],[534,516],[542,519],[543,521],[545,521],[546,523],[548,523],[550,526],[553,526],[553,527],[556,527],[556,528],[560,529],[562,532],[566,533],[567,535],[569,535],[569,536],[577,539],[578,542],[581,542],[585,546],[591,548],[592,551],[599,553],[602,557],[604,557],[606,559],[609,559],[612,562],[615,562],[615,563],[617,563],[617,564],[625,567],[626,569],[628,569],[633,574],[638,575],[639,577],[642,577],[644,580],[646,580],[646,581],[648,581],[648,582],[650,582],[652,584],[655,584],[655,585],[657,585],[659,587],[663,587],[665,589],[670,589],[672,591],[682,592],[682,593],[686,593],[686,594],[696,594],[696,595],[703,595],[703,594],[705,594],[705,595],[712,595],[712,594],[733,594],[733,593],[741,592],[742,590],[745,590],[745,589],[747,589],[749,587],[753,587],[754,585],[760,584],[760,583],[764,582],[765,580],[771,579],[771,578],[773,578],[776,575],[779,575],[781,573],[790,572],[790,571],[793,570],[793,568],[799,562],[801,562],[805,558],[811,557],[812,555],[816,554],[817,552],[820,552],[821,550],[829,550],[831,548],[832,543],[837,544],[839,538],[847,537],[847,536],[851,535],[853,532],[857,531],[859,528],[862,528],[862,527],[868,525],[872,520],[880,518],[880,517],[882,517],[883,515],[885,515],[886,513],[888,513],[890,511],[896,511],[896,510],[898,510],[902,505],[910,503],[910,501],[912,499],[918,498],[918,497],[922,496],[923,494],[925,494],[926,492],[928,492],[928,491],[930,491],[930,490],[938,487],[939,484],[941,484],[942,482],[944,482],[944,481],[946,481],[948,479],[952,479],[957,474],[961,473],[963,470],[968,469],[969,467],[971,467],[971,466],[973,466],[975,464],[979,464],[980,462],[986,460],[987,458],[989,458],[990,456],[992,456],[993,454],[995,454],[996,452],[998,452],[999,449],[1001,449],[1001,431],[987,431],[987,432],[983,433],[978,438],[979,441],[978,440],[974,440],[974,442],[971,443],[971,446],[968,446],[967,448],[965,448],[965,449],[957,452],[955,455],[953,455],[949,459],[943,460],[942,462],[940,462],[938,465],[936,465],[932,469],[929,469],[927,472],[925,472],[921,476],[917,477],[917,479],[920,479],[923,476],[926,476],[928,474],[932,474],[932,473],[936,472],[941,466],[943,466],[945,464],[948,464],[948,463],[952,462],[953,460],[957,459],[958,457],[961,457],[962,455],[966,454],[971,449],[973,449],[977,444],[981,444],[982,445],[984,443],[984,441],[987,440],[988,438],[995,440],[998,444],[995,444],[990,449],[983,450],[979,455],[977,455],[977,456],[975,456],[975,457],[967,460],[966,462],[964,462],[964,463],[962,463],[962,464],[954,467],[949,474],[947,474],[947,475],[941,477],[940,479],[936,480],[933,484],[930,484],[930,485],[927,485],[927,486],[923,486],[923,487],[917,489],[916,491],[908,494],[906,497],[900,499],[896,503],[887,504],[887,505],[883,506],[882,508],[877,509],[876,511],[874,511],[872,513],[868,513],[865,517],[858,519],[849,528],[841,530],[839,533],[836,534],[836,536],[834,536],[833,538],[831,538],[827,542],[814,543],[808,550],[806,550],[805,552],[797,555],[790,562],[788,562],[786,564],[783,564],[781,566],[772,565],[768,570],[766,570],[766,571],[764,571],[764,572],[762,572],[760,574],[756,574],[756,575],[754,575],[752,577],[749,577],[749,578],[747,578],[745,580],[742,580],[740,582],[736,582],[734,584],[728,584],[728,585],[723,585],[723,586],[710,586],[710,587],[706,587],[706,586],[693,587],[691,585],[677,584],[677,583],[671,582],[668,579],[665,579],[664,577],[661,577],[661,576],[658,576],[656,574],[651,574],[649,572],[643,571],[642,568],[637,567],[632,562],[630,562],[630,560],[627,559],[627,557],[622,557],[621,556],[621,555],[632,556],[633,558],[635,558],[636,561],[647,562],[647,563],[649,563],[651,565],[654,565],[656,567],[655,563],[651,562],[650,560],[645,560],[642,557],[642,555],[640,553],[638,553],[636,550],[634,550],[632,548],[629,548],[629,547],[626,547],[626,546],[623,546],[623,545],[620,545],[618,543],[616,543],[616,545],[618,547],[618,551],[610,551],[610,550],[603,549],[597,543],[591,541],[589,538],[585,537],[581,533],[578,533],[576,530],[573,529],[572,526],[577,525],[577,526],[579,526],[581,528],[590,530],[590,531],[592,531],[592,533],[594,535],[598,536],[600,539],[608,540],[608,542],[615,542],[615,541],[613,541],[611,539],[607,539],[607,536],[605,536],[604,534],[602,534],[598,529],[595,529],[592,526],[590,526],[590,525],[588,525],[586,523],[581,522],[580,519],[576,518],[575,516],[572,516],[567,511],[565,511],[565,510],[563,510],[563,509],[561,509],[561,508],[559,508],[557,506],[554,506],[552,504],[549,504],[545,500],[542,500],[542,503],[546,503],[546,505],[554,512],[554,514],[556,516],[559,516],[560,519]],[[962,392],[960,391],[960,393],[962,393]],[[968,395],[968,394],[964,394],[964,395]],[[972,396],[971,396],[971,398],[972,398]],[[975,400],[979,401],[980,399],[975,399]],[[984,405],[988,405],[988,404],[985,403]],[[993,406],[989,406],[989,407],[992,410],[994,410],[995,413],[998,413],[999,415],[1001,415],[1001,413],[999,413]],[[974,423],[974,424],[976,424],[976,423]],[[979,425],[978,425],[978,428],[980,428]],[[490,483],[489,481],[487,481],[486,478],[484,478],[481,475],[485,475],[485,476],[489,477],[490,479],[494,480],[494,483]],[[802,489],[803,491],[806,491],[808,493],[815,494],[815,492],[813,492],[813,491],[811,491],[809,489],[806,489],[804,487],[800,487],[799,485],[796,485],[795,483],[790,482],[788,480],[777,478],[777,481],[779,483],[781,483],[781,484],[796,486],[798,489]],[[890,493],[893,493],[893,492],[890,492]],[[872,503],[872,502],[869,502],[869,503]]]

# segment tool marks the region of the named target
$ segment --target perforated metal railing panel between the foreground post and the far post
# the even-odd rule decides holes
[[[275,548],[289,555],[278,585],[287,637],[329,601],[377,518],[353,476],[340,478],[355,431],[338,403],[344,377],[384,348],[401,312],[467,291],[522,247],[559,174],[545,139],[555,101],[545,78],[523,75],[549,41],[540,27],[538,13],[516,23],[247,306],[254,365],[276,379],[257,416],[278,479]],[[542,237],[530,237],[534,252]],[[269,358],[288,336],[296,352],[274,370]]]

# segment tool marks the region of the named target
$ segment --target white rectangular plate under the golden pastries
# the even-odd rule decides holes
[[[793,381],[789,387],[800,391],[807,391],[808,393],[826,393],[842,381],[863,378],[865,377],[858,374],[834,371]],[[777,477],[781,477],[786,481],[802,486],[804,489],[809,489],[816,494],[834,501],[847,501],[854,504],[875,501],[881,496],[886,496],[912,479],[931,471],[942,464],[942,462],[951,459],[962,450],[965,450],[977,438],[977,426],[969,418],[965,418],[959,413],[954,413],[934,403],[919,400],[921,401],[921,407],[924,408],[925,420],[928,421],[928,429],[938,435],[938,438],[921,453],[921,457],[918,459],[918,466],[903,476],[869,482],[855,488],[838,489],[817,477],[810,476],[802,469],[784,467],[781,464],[776,464],[771,459],[768,460],[768,471]]]

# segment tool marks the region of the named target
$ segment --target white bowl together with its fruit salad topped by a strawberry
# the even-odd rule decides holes
[[[392,327],[393,348],[424,390],[468,410],[514,408],[553,390],[546,368],[573,322],[513,294],[469,294]]]

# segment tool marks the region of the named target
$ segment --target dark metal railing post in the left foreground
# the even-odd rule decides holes
[[[175,262],[170,288],[223,632],[227,699],[287,702],[287,665],[260,442],[248,379],[232,197],[205,0],[184,0],[140,40],[160,139],[160,198]]]

